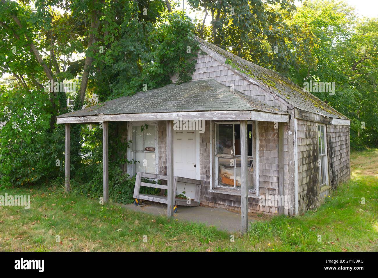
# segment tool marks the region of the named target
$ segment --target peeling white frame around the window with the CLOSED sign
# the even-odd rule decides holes
[[[147,124],[148,126],[155,126],[155,174],[158,174],[158,169],[159,169],[159,156],[158,156],[158,122],[157,121],[129,121],[127,124],[127,141],[133,140],[133,127],[138,126],[139,128],[141,126],[144,126],[144,124]],[[145,153],[146,151],[133,151],[133,143],[131,142],[129,144],[129,148],[127,148],[127,160],[133,160],[134,159],[134,154],[135,152],[143,152]],[[144,147],[144,145],[143,145]],[[153,152],[149,152],[153,153]],[[136,165],[133,164],[128,164],[127,165],[127,173],[130,176],[135,175],[136,173]]]

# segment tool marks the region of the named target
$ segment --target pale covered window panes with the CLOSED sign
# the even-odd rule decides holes
[[[136,160],[134,172],[156,174],[156,125],[132,126],[132,158]]]

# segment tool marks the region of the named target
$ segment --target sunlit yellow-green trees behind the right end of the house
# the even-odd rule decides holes
[[[315,63],[301,59],[300,67],[292,66],[291,79],[300,86],[310,79],[335,82],[335,95],[313,94],[350,118],[352,148],[377,146],[378,20],[357,22],[346,2],[308,0],[291,24],[304,26],[316,42],[309,53]]]

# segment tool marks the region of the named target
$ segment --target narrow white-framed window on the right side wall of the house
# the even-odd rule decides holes
[[[327,136],[324,124],[318,124],[319,143],[319,184],[320,187],[328,185],[328,159],[327,159]]]

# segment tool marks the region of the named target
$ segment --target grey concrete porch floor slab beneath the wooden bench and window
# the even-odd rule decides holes
[[[167,216],[167,205],[162,203],[148,202],[139,206],[134,204],[122,205],[129,210],[149,213],[159,216]],[[208,226],[214,226],[218,230],[229,232],[240,231],[242,229],[242,216],[240,213],[229,211],[221,208],[211,207],[184,207],[179,206],[174,218],[184,221],[203,223]],[[249,213],[248,222],[257,221],[257,215]]]

